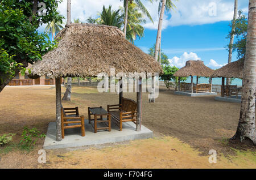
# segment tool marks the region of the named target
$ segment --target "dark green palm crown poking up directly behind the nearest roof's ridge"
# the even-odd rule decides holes
[[[103,9],[99,14],[100,20],[98,21],[98,24],[113,25],[121,28],[123,22],[122,16],[119,14],[120,10],[114,11],[111,8],[111,5],[109,8],[105,8],[105,6],[103,6]]]

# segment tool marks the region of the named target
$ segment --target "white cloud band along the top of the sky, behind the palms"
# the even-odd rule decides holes
[[[248,0],[238,1],[238,8],[246,11],[248,6],[247,2]],[[146,24],[143,24],[143,27],[148,29],[158,29],[159,1],[150,3],[147,0],[142,0],[142,3],[147,8],[148,12],[150,12],[154,21],[153,24],[150,19],[145,18],[147,22]],[[166,12],[164,15],[163,29],[168,26],[216,23],[223,20],[231,20],[233,18],[233,0],[180,0],[177,2],[174,1],[174,3],[176,5],[175,10]],[[216,3],[216,16],[209,15],[210,3]],[[102,10],[103,5],[106,7],[112,5],[112,8],[117,10],[120,6],[123,6],[123,2],[119,0],[72,0],[71,19],[79,18],[82,22],[86,22],[86,19],[89,18],[89,16],[96,17],[98,12]],[[67,0],[64,0],[59,4],[58,10],[62,15],[65,17],[67,16]]]

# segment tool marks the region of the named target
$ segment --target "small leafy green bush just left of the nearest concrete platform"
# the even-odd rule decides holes
[[[34,145],[39,138],[44,138],[45,136],[45,134],[40,134],[36,128],[29,129],[28,127],[24,127],[22,139],[19,143],[20,148],[29,151],[34,148]]]

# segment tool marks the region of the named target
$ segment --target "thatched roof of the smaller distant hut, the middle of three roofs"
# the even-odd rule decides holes
[[[186,65],[175,72],[174,76],[188,77],[188,76],[204,76],[209,77],[214,70],[204,65],[200,60],[189,60]]]

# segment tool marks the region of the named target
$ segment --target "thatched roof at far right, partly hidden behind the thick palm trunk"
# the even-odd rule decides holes
[[[244,64],[244,58],[239,59],[238,61],[234,61],[231,63],[228,63],[228,65],[225,65],[213,72],[211,75],[212,78],[243,78],[243,64]]]

